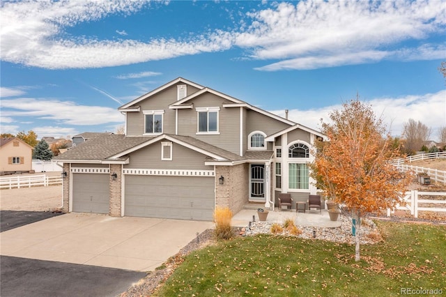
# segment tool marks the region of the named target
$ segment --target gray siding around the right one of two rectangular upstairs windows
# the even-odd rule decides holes
[[[232,153],[240,153],[240,109],[224,108],[223,98],[205,93],[194,98],[193,109],[178,110],[178,134],[197,138],[213,146],[218,146]],[[197,135],[197,107],[220,107],[218,112],[218,135]]]

